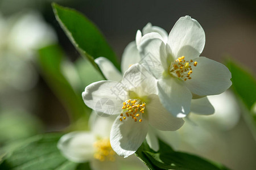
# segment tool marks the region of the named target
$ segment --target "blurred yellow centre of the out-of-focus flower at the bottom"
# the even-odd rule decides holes
[[[100,161],[109,160],[114,162],[115,152],[113,151],[109,139],[100,139],[93,143],[94,148],[96,148],[96,152],[94,154],[94,158]]]

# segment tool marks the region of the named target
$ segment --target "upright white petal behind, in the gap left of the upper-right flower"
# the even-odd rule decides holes
[[[141,61],[141,56],[139,55],[139,50],[135,41],[130,42],[123,51],[122,61],[121,61],[121,70],[124,74],[126,70],[129,69],[134,63]]]

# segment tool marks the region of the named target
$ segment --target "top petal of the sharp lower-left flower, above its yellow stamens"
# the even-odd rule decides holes
[[[125,72],[122,84],[138,96],[157,94],[156,79],[139,63],[134,64]]]

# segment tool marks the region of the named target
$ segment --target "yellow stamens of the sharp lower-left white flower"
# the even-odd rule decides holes
[[[122,122],[126,120],[127,117],[133,118],[135,122],[139,120],[142,122],[142,113],[144,113],[146,103],[142,102],[141,100],[126,100],[123,102],[122,113],[120,114],[121,118],[119,120]]]

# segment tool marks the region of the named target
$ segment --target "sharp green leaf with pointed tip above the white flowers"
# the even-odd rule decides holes
[[[69,40],[84,57],[87,57],[93,66],[98,69],[94,62],[97,57],[106,57],[120,69],[117,57],[110,48],[105,37],[88,18],[71,8],[62,7],[52,3],[56,19],[63,28]],[[98,69],[100,70],[100,69]]]

